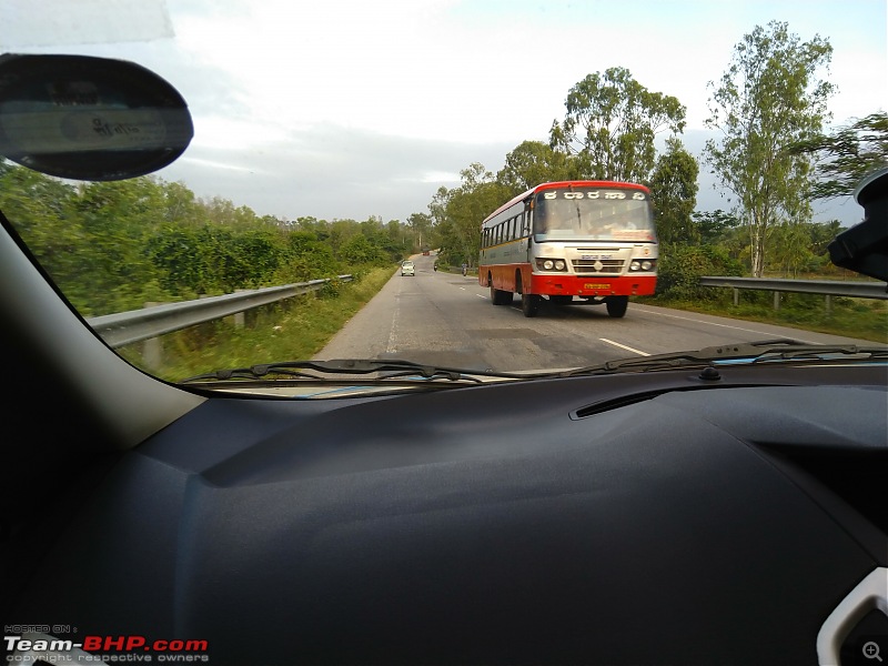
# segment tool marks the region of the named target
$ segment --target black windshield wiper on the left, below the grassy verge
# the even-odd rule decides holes
[[[370,377],[369,375],[376,376]],[[361,375],[362,384],[375,384],[392,380],[484,383],[480,377],[524,380],[527,375],[493,372],[491,370],[466,370],[438,367],[397,359],[375,361],[371,359],[337,359],[332,361],[284,361],[259,363],[249,367],[231,367],[200,374],[180,384],[215,383],[228,381],[252,381],[263,379],[327,381],[327,375]]]

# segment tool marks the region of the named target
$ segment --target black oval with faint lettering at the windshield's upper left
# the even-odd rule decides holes
[[[0,155],[65,179],[151,173],[194,135],[179,92],[132,62],[88,56],[0,56]]]

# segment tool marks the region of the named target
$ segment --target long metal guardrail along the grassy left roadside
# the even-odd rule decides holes
[[[352,275],[337,275],[342,282],[351,282]],[[202,324],[212,320],[238,314],[260,305],[268,305],[292,299],[301,294],[321,289],[330,282],[326,280],[311,280],[282,286],[248,290],[222,296],[210,296],[196,301],[183,301],[154,305],[143,310],[105,314],[87,320],[87,323],[102,336],[113,349],[133,342],[158,337],[164,333],[172,333],[188,329],[194,324]]]

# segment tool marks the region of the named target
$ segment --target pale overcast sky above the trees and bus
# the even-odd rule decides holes
[[[709,81],[755,26],[829,40],[835,124],[888,107],[888,0],[2,0],[0,50],[114,56],[189,102],[161,171],[283,219],[405,220],[473,162],[546,141],[568,90],[625,67],[706,138]],[[110,43],[118,42],[118,43]],[[63,43],[60,48],[59,43]],[[664,137],[665,139],[665,137]],[[702,167],[699,210],[729,209]],[[860,218],[852,201],[819,219]]]

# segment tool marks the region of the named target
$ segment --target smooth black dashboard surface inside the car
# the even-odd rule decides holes
[[[885,385],[835,374],[586,417],[658,380],[208,401],[95,487],[20,616],[214,664],[815,664],[888,564],[884,509],[808,464],[888,463]]]

